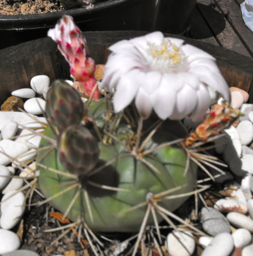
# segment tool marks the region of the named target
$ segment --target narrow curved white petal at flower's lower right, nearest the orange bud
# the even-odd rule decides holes
[[[200,89],[197,91],[197,97],[197,105],[191,114],[193,121],[203,118],[211,104],[207,87],[204,84],[200,84]]]

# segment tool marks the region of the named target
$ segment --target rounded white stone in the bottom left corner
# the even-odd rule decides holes
[[[0,254],[15,251],[21,244],[14,232],[2,228],[0,228],[0,241]]]

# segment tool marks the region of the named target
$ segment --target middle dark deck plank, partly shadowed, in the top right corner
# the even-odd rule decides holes
[[[213,30],[213,33],[216,35],[216,40],[220,45],[229,50],[251,57],[238,35],[225,19],[224,12],[218,8],[217,3],[214,3],[214,1],[215,0],[200,0],[200,2],[197,3],[197,8],[200,10],[202,16],[206,19]],[[230,3],[230,1],[225,0],[225,3],[228,2]],[[235,2],[233,3],[235,4]]]

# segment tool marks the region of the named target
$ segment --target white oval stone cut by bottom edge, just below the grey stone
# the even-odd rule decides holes
[[[234,247],[232,235],[221,233],[216,235],[211,243],[204,249],[201,256],[229,256]]]

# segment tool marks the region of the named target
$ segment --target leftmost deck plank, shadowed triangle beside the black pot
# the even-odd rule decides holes
[[[206,42],[212,45],[220,46],[216,41],[212,31],[208,28],[206,21],[202,18],[196,7],[192,11],[192,19],[190,24],[191,27],[188,31],[188,35],[191,38],[198,39],[202,42]]]

